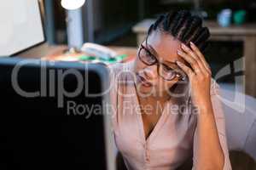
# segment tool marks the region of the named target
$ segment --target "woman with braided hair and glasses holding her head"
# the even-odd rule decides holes
[[[218,84],[201,51],[210,36],[188,11],[161,15],[137,58],[110,66],[115,143],[128,169],[231,169]]]

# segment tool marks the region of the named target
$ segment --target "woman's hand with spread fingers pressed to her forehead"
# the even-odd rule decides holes
[[[192,101],[195,105],[205,105],[206,102],[211,102],[210,88],[212,71],[210,66],[199,48],[193,42],[190,42],[191,48],[182,43],[182,49],[177,50],[180,55],[190,65],[184,65],[182,62],[177,61],[177,65],[187,74],[191,86]]]

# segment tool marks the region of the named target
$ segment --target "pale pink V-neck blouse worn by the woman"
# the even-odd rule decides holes
[[[159,121],[146,139],[135,77],[132,76],[133,65],[134,60],[109,66],[113,138],[126,167],[129,170],[170,170],[181,166],[189,156],[193,156],[193,169],[196,169],[196,114],[178,114],[176,107],[167,102]],[[212,79],[212,106],[218,137],[224,150],[224,170],[227,170],[231,166],[218,88]]]

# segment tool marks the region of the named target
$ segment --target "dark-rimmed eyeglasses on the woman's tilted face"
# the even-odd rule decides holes
[[[166,81],[172,81],[176,77],[179,80],[184,80],[185,76],[183,71],[173,69],[164,63],[160,63],[159,59],[151,54],[150,51],[143,46],[143,44],[141,44],[139,48],[138,58],[148,66],[157,64],[158,75]]]

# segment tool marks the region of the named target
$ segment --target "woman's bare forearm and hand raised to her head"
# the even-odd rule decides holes
[[[195,44],[191,48],[182,45],[179,54],[192,67],[177,62],[189,77],[192,101],[197,108],[197,127],[195,130],[195,148],[193,169],[224,169],[224,150],[219,139],[218,127],[215,120],[212,96],[210,94],[212,72]],[[223,127],[224,128],[224,127]],[[225,140],[224,140],[225,142]]]

